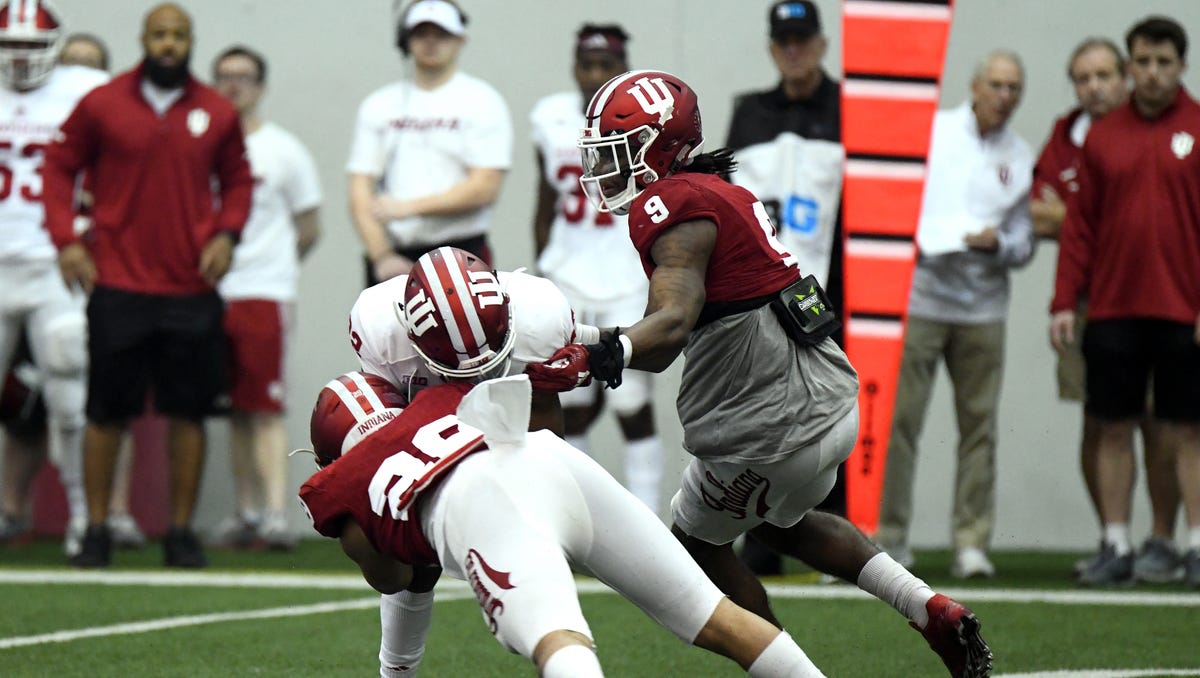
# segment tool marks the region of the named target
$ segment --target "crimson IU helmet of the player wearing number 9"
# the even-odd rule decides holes
[[[630,71],[605,83],[584,112],[580,185],[600,211],[628,214],[646,186],[704,143],[696,92],[662,71]]]

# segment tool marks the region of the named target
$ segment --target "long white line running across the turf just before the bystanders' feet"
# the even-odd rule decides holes
[[[103,570],[2,570],[0,584],[103,584],[103,586],[176,586],[228,588],[319,588],[368,590],[358,575],[292,575],[275,572],[164,572]],[[580,593],[604,593],[605,584],[580,578]],[[460,581],[443,578],[438,590],[467,590]],[[767,590],[779,598],[814,600],[853,600],[870,598],[851,586],[768,583]],[[941,593],[970,602],[1043,602],[1051,605],[1132,605],[1163,607],[1200,607],[1200,593],[1158,593],[1138,590],[1039,590],[953,588]]]

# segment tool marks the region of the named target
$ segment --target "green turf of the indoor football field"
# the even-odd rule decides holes
[[[1067,572],[1078,554],[997,553],[1000,571],[978,589],[1078,590]],[[121,552],[114,570],[151,568],[161,552]],[[212,553],[214,570],[352,574],[331,541],[306,541],[293,553]],[[344,562],[344,563],[343,563]],[[59,566],[56,544],[0,550],[0,566]],[[918,574],[955,586],[949,554],[918,553]],[[794,564],[792,574],[812,577]],[[848,588],[848,587],[847,587]],[[1136,590],[1177,592],[1178,584]],[[0,638],[154,620],[181,614],[274,608],[371,598],[355,589],[263,589],[98,584],[0,584]],[[1084,668],[1190,668],[1200,674],[1200,604],[1187,606],[1051,605],[972,601],[997,655],[997,674]],[[725,677],[730,661],[689,648],[616,595],[586,594],[583,610],[608,676]],[[797,641],[829,676],[943,676],[936,656],[893,610],[872,600],[773,600]],[[137,635],[0,649],[0,676],[371,676],[378,665],[374,608],[293,618],[221,622]],[[533,676],[520,656],[491,637],[473,599],[443,600],[434,612],[425,677]]]

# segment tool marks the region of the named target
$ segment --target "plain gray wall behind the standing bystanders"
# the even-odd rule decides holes
[[[828,70],[839,74],[839,4],[817,0],[829,36]],[[306,445],[308,407],[331,376],[355,366],[346,342],[346,313],[361,284],[360,247],[346,210],[342,166],[359,101],[374,88],[401,77],[406,66],[391,47],[386,0],[204,0],[185,2],[193,12],[193,67],[208,76],[214,54],[245,42],[268,56],[269,118],[305,140],[320,164],[326,192],[325,236],[306,264],[299,322],[289,356],[292,446]],[[463,0],[470,14],[464,71],[500,90],[516,121],[516,162],[504,186],[493,230],[502,268],[532,264],[530,220],[536,170],[527,118],[533,102],[571,86],[571,46],[583,20],[614,20],[634,40],[631,61],[685,78],[700,94],[709,148],[724,142],[730,102],[736,92],[774,84],[767,53],[767,0]],[[976,59],[988,49],[1015,49],[1028,76],[1025,102],[1014,126],[1039,148],[1056,115],[1072,104],[1064,62],[1085,35],[1121,42],[1123,31],[1145,14],[1178,18],[1200,36],[1200,2],[1194,0],[959,0],[950,36],[942,101],[953,106],[967,92]],[[140,55],[138,34],[151,2],[60,0],[68,29],[89,30],[110,44],[124,70]],[[1188,82],[1195,86],[1195,77]],[[1097,529],[1078,473],[1079,408],[1055,396],[1054,358],[1046,341],[1050,287],[1056,248],[1043,245],[1033,263],[1015,275],[1008,334],[1008,368],[1000,408],[1000,490],[997,547],[1082,548]],[[680,434],[673,412],[678,367],[660,380],[659,424],[667,450],[665,494],[670,497],[683,466]],[[232,509],[223,425],[212,426],[199,522],[209,526]],[[616,464],[619,437],[605,421],[593,439],[601,461]],[[944,545],[949,539],[949,502],[954,428],[949,388],[937,384],[923,437],[913,540]],[[292,461],[295,486],[311,462]],[[619,473],[619,472],[618,472]],[[1135,506],[1135,535],[1147,526],[1147,505]],[[306,529],[296,510],[294,524]]]

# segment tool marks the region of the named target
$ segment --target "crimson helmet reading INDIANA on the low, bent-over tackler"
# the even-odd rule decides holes
[[[334,463],[364,438],[383,428],[404,409],[404,397],[383,377],[347,372],[317,396],[308,438],[317,466]]]

